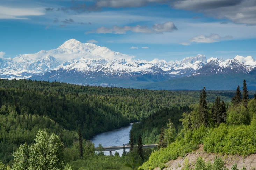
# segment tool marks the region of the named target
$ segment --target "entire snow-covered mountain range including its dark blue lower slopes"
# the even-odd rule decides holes
[[[133,58],[70,39],[57,49],[0,57],[0,78],[167,90],[198,90],[202,84],[212,90],[233,90],[246,79],[248,89],[256,90],[252,56],[223,60],[198,54],[170,62]]]

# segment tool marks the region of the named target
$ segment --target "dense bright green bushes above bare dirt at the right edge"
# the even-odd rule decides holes
[[[210,153],[250,155],[256,152],[255,131],[251,126],[227,126],[222,123],[211,128],[204,138],[204,150]]]

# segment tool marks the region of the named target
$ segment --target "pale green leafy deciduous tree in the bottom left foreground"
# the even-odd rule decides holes
[[[27,146],[21,145],[14,153],[13,170],[62,170],[63,143],[58,135],[39,130],[35,143]],[[71,169],[70,167],[67,167]]]

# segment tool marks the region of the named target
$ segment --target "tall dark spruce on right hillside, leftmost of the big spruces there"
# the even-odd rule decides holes
[[[207,102],[206,102],[206,91],[205,87],[201,90],[200,101],[199,101],[199,114],[202,118],[202,123],[207,126],[208,125],[208,110],[207,110]]]

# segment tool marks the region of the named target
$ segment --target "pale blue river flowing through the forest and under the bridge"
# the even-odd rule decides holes
[[[132,123],[130,123],[130,125],[126,127],[95,135],[93,139],[91,139],[91,141],[92,143],[94,143],[95,147],[98,147],[99,144],[101,144],[103,147],[123,146],[123,143],[129,143],[129,132],[131,128]],[[126,151],[129,151],[129,149],[126,149]],[[112,154],[114,154],[115,152],[116,151],[113,151]],[[117,152],[122,155],[123,150],[118,150]],[[104,155],[109,155],[109,151],[105,151]]]

